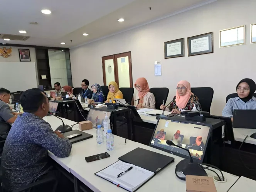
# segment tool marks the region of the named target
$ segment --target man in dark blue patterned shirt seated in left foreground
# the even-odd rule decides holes
[[[20,96],[24,113],[17,117],[5,141],[2,155],[3,188],[19,189],[51,173],[47,150],[58,157],[68,157],[71,142],[42,118],[49,111],[47,97],[38,88]],[[48,191],[49,184],[39,191]],[[50,188],[51,189],[51,188]]]

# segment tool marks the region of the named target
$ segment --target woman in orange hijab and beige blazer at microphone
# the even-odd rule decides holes
[[[155,96],[153,95],[153,93],[149,92],[147,79],[145,79],[144,77],[138,78],[135,81],[134,86],[138,91],[138,93],[136,94],[136,100],[140,99],[136,107],[155,109]]]

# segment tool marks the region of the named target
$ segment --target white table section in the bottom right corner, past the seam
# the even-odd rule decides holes
[[[228,192],[255,192],[256,181],[241,176]]]

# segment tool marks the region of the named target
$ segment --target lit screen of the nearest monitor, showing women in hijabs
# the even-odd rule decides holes
[[[150,146],[180,157],[189,156],[186,150],[167,145],[166,141],[170,140],[175,145],[188,149],[197,162],[202,162],[209,131],[209,126],[159,119]]]

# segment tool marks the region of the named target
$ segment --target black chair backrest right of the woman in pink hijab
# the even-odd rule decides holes
[[[202,111],[210,112],[213,98],[213,89],[209,87],[191,88],[191,92],[199,98]]]

